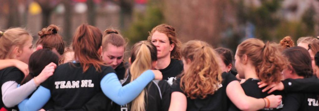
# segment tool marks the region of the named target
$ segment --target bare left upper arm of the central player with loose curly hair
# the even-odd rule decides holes
[[[181,92],[173,92],[171,96],[171,104],[168,111],[186,111],[187,99]]]

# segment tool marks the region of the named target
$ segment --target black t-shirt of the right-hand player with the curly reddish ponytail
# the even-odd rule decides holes
[[[245,94],[247,96],[259,99],[259,98],[265,98],[268,95],[281,95],[283,98],[285,98],[285,93],[283,91],[274,91],[271,94],[267,94],[267,92],[262,92],[263,89],[258,87],[258,84],[257,84],[258,82],[260,82],[259,79],[249,78],[244,83],[241,84],[241,87],[244,89]],[[269,111],[269,110],[280,111],[283,108],[283,103],[284,103],[284,99],[277,108],[264,108],[264,109],[261,109],[260,111]],[[239,109],[232,103],[229,110],[236,111]]]

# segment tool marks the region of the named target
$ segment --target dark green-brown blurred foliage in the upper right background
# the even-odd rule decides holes
[[[237,5],[237,17],[240,23],[251,22],[255,25],[255,36],[262,40],[279,42],[285,36],[295,41],[302,36],[314,35],[314,15],[312,8],[300,21],[289,22],[280,15],[283,0],[262,0],[260,7],[245,7],[243,0]]]

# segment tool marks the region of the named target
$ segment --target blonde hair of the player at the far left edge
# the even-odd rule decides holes
[[[32,40],[32,36],[22,28],[12,28],[4,32],[0,31],[0,59],[13,59],[11,54],[14,46],[22,49],[27,40]],[[27,36],[23,36],[27,35]]]

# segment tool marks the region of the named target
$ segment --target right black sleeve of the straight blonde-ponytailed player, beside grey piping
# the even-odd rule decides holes
[[[168,111],[169,105],[171,103],[171,86],[169,86],[166,80],[161,80],[159,81],[159,88],[162,93],[161,110]]]

